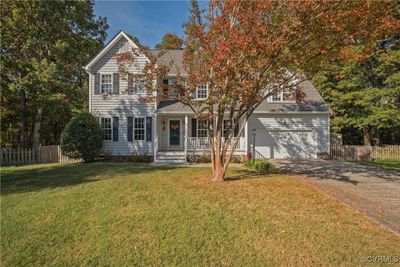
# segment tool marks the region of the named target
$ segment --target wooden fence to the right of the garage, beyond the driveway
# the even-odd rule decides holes
[[[400,145],[388,146],[331,146],[331,158],[335,160],[371,161],[380,159],[400,160]]]

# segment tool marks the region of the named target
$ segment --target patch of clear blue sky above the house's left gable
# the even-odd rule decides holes
[[[96,1],[94,11],[97,16],[107,17],[106,42],[123,30],[154,47],[167,32],[183,36],[189,7],[189,1]]]

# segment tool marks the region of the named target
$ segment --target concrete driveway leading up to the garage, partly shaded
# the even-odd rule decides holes
[[[334,160],[273,160],[400,235],[400,172]]]

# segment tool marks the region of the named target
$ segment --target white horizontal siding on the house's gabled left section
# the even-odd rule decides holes
[[[131,155],[131,154],[153,154],[153,142],[132,141],[127,139],[127,117],[154,117],[154,103],[143,103],[139,101],[139,95],[127,94],[128,80],[120,77],[119,95],[112,95],[104,99],[103,96],[94,94],[94,83],[96,73],[117,73],[118,64],[113,58],[119,50],[121,43],[128,41],[123,37],[114,47],[112,47],[102,58],[96,62],[89,74],[89,111],[97,117],[119,117],[118,141],[104,141],[104,150],[111,155]],[[131,72],[139,72],[146,64],[146,57],[137,59],[136,64],[131,68]],[[121,75],[120,75],[121,76]],[[153,129],[153,140],[154,140]]]

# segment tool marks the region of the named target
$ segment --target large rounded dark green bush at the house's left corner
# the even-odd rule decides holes
[[[90,113],[80,113],[61,133],[61,151],[71,158],[95,160],[103,147],[103,131],[97,119]]]

